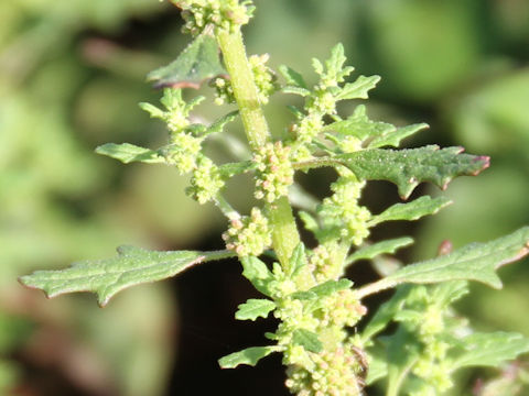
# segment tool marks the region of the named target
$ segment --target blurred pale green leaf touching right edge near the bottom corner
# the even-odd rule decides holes
[[[518,333],[474,333],[465,337],[461,355],[453,361],[454,370],[469,366],[498,366],[529,352],[529,339]]]

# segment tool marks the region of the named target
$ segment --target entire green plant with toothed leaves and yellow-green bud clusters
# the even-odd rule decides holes
[[[280,68],[285,81],[280,84],[266,65],[268,56],[246,55],[241,26],[253,14],[251,1],[173,2],[183,10],[184,30],[194,40],[172,64],[149,75],[158,87],[164,87],[163,108],[141,103],[151,117],[166,123],[169,143],[159,150],[105,144],[97,152],[123,163],[168,164],[181,174],[191,173],[188,195],[199,204],[214,202],[228,219],[223,234],[227,249],[156,252],[121,246],[117,257],[35,272],[21,277],[24,285],[43,289],[48,297],[94,292],[105,306],[126,287],[174,276],[203,262],[237,256],[242,275],[266,298],[241,304],[236,318],[257,320],[272,314],[280,323],[274,333],[266,334],[270,345],[224,356],[220,366],[255,365],[268,354],[282,353],[287,386],[298,395],[361,395],[366,385],[382,380],[387,396],[439,395],[452,388],[454,373],[461,369],[497,366],[529,351],[529,340],[522,336],[473,331],[452,308],[467,294],[468,280],[501,287],[496,270],[529,253],[529,228],[392,271],[377,266],[382,277],[367,285],[354,287],[344,277],[345,270],[356,262],[377,263],[413,242],[399,238],[370,243],[371,228],[386,221],[417,220],[451,204],[442,197],[423,196],[374,215],[359,204],[368,180],[391,182],[406,199],[422,182],[445,188],[456,176],[477,175],[488,166],[488,157],[434,145],[395,150],[427,125],[397,128],[373,121],[363,105],[342,118],[337,103],[367,99],[379,77],[346,81],[353,68],[345,66],[339,44],[327,61],[313,59],[317,75],[314,86],[287,66]],[[204,80],[215,89],[217,105],[235,103],[237,111],[212,124],[195,122],[191,111],[204,98],[186,101],[182,89],[199,87]],[[272,135],[261,106],[278,90],[302,97],[304,105],[301,109],[289,107],[292,123]],[[213,134],[233,140],[224,130],[238,117],[248,153],[217,165],[206,155],[203,143]],[[298,212],[317,241],[309,249],[301,242],[292,210],[302,202],[300,196],[309,196],[294,187],[294,174],[322,166],[333,167],[337,179],[331,185],[330,197],[317,205],[305,204]],[[225,184],[240,174],[253,175],[256,184],[257,204],[246,216],[224,196]],[[393,297],[361,331],[353,332],[367,314],[363,299],[389,288],[397,288]],[[381,336],[391,321],[397,330]]]

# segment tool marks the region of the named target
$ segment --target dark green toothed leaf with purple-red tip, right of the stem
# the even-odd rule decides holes
[[[439,150],[436,145],[410,150],[363,150],[337,155],[356,176],[366,180],[395,183],[402,198],[408,198],[421,182],[445,189],[456,176],[477,175],[489,165],[487,156],[461,154],[462,147]]]

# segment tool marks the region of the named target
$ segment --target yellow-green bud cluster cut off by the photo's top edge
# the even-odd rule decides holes
[[[251,0],[172,0],[183,10],[184,32],[197,35],[208,25],[234,32],[247,24],[253,14]]]

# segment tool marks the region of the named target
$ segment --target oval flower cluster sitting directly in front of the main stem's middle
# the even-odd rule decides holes
[[[281,142],[268,143],[253,155],[257,165],[256,198],[273,202],[288,195],[294,182],[294,169],[289,158],[290,147]]]

